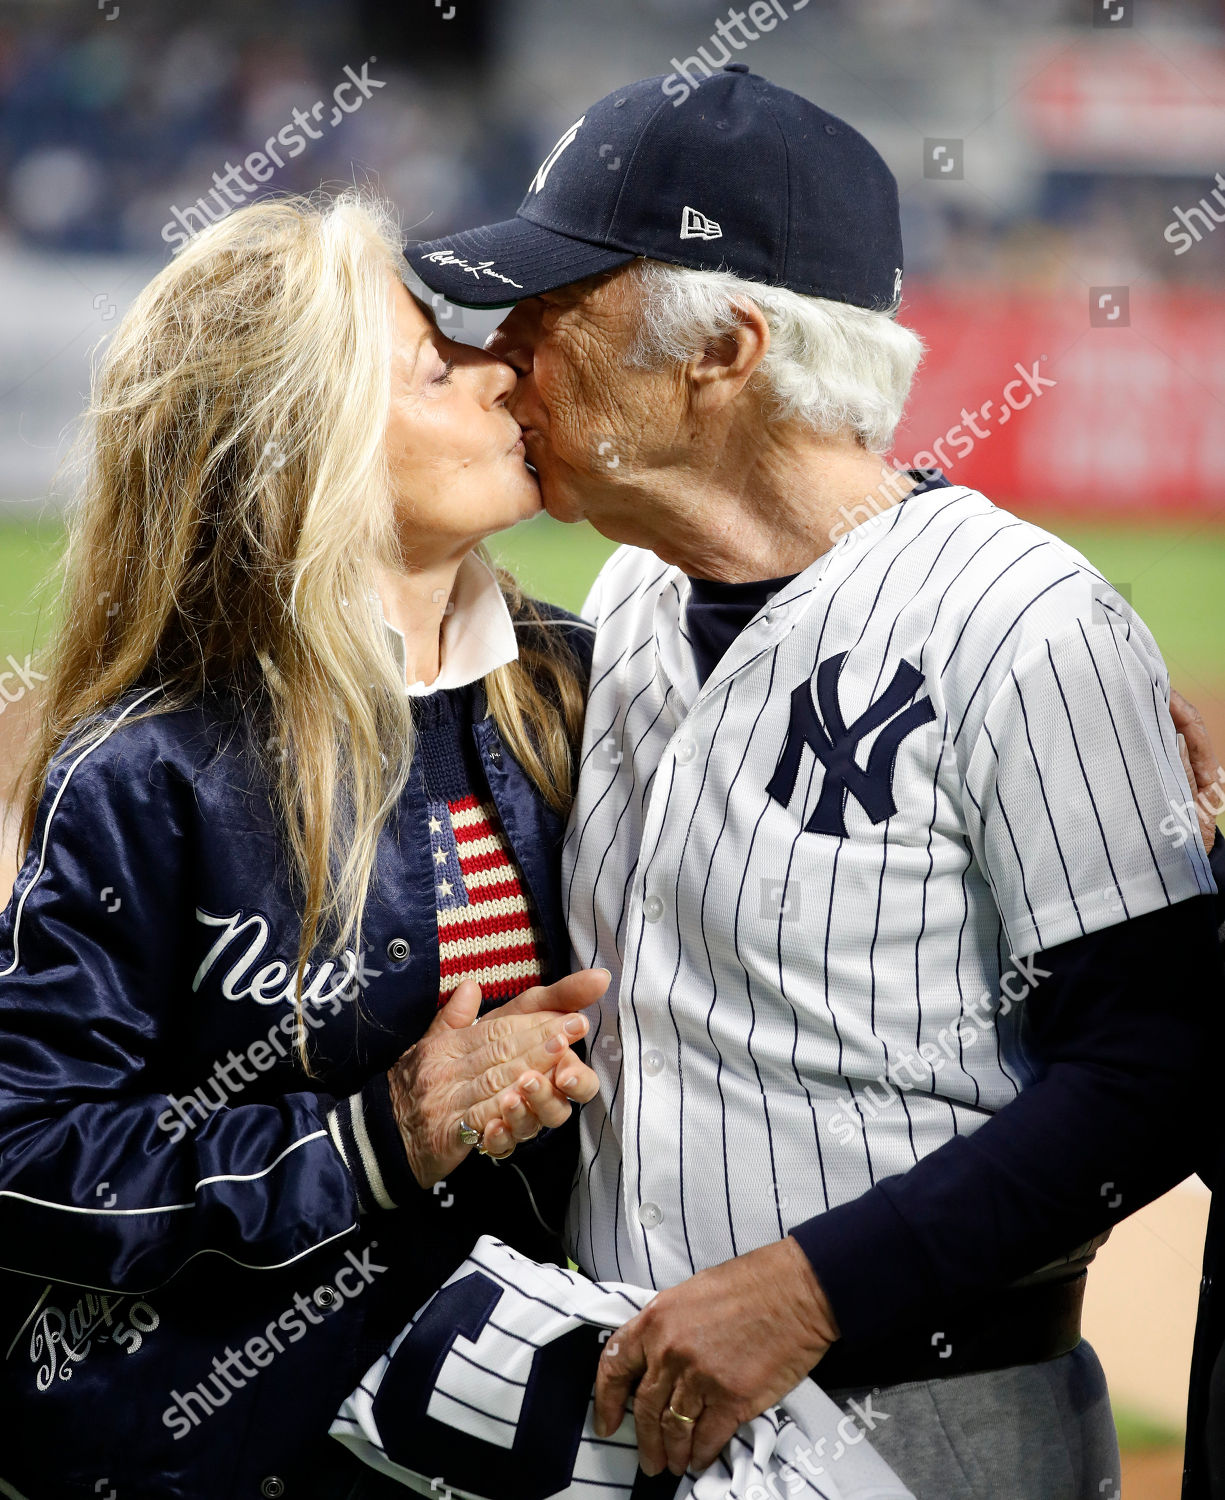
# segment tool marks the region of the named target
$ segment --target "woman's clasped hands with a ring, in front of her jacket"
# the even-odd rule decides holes
[[[426,1035],[388,1070],[391,1104],[412,1174],[432,1186],[468,1155],[465,1120],[493,1156],[507,1156],[543,1125],[561,1125],[571,1100],[598,1090],[570,1050],[588,1030],[583,1016],[609,987],[606,969],[580,969],[535,986],[477,1020],[480,986],[465,980]]]

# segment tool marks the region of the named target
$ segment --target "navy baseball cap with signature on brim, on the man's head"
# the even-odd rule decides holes
[[[745,63],[679,100],[672,80],[594,104],[513,219],[405,246],[412,270],[468,308],[508,308],[640,255],[897,306],[898,188],[876,147]]]

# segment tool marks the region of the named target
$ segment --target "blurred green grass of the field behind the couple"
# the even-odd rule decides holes
[[[1189,698],[1225,698],[1225,530],[1039,519],[1129,594]],[[55,522],[0,520],[0,658],[46,645],[54,602],[40,585],[61,540]],[[570,609],[579,609],[612,549],[591,526],[564,526],[549,516],[493,540],[493,552],[532,594]]]

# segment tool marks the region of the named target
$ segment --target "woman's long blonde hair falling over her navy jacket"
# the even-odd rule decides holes
[[[411,699],[369,604],[372,561],[396,560],[384,432],[400,266],[385,201],[277,198],[204,230],[135,300],[94,375],[22,772],[25,848],[67,735],[88,744],[136,687],[162,692],[132,718],[232,693],[291,850],[298,1005],[316,942],[361,952],[378,837],[412,760]],[[499,580],[520,656],[486,676],[490,711],[565,810],[577,666]]]

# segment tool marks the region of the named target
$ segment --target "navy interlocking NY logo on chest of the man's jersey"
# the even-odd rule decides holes
[[[859,802],[874,824],[885,822],[897,812],[892,782],[894,762],[903,740],[922,724],[936,718],[931,698],[924,694],[904,708],[907,699],[922,686],[924,675],[909,662],[898,662],[894,680],[864,712],[847,724],[838,706],[838,674],[843,669],[846,651],[826,657],[817,668],[817,704],[820,717],[813,708],[808,681],[792,690],[792,718],[787,724],[787,742],[778,758],[778,766],[766,783],[766,792],[787,807],[799,776],[799,760],[804,746],[825,765],[817,806],[804,825],[810,834],[837,834],[846,837],[844,806],[847,792]],[[822,723],[822,720],[825,720]],[[880,726],[885,726],[883,729]],[[874,729],[880,729],[868,753],[867,770],[855,759],[859,742]]]

